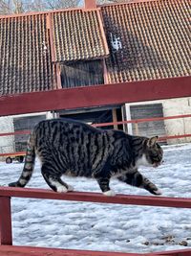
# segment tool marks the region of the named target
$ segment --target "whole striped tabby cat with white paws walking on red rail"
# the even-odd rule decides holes
[[[160,195],[157,186],[138,173],[140,165],[160,165],[162,149],[157,140],[157,136],[150,139],[132,136],[121,130],[93,128],[65,118],[45,120],[33,128],[23,172],[9,186],[25,187],[38,155],[42,175],[55,192],[73,191],[61,179],[61,175],[72,175],[94,177],[104,195],[115,196],[109,183],[116,176],[122,182]]]

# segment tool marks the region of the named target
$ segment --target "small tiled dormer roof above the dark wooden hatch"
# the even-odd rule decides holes
[[[99,10],[54,12],[55,61],[104,58],[109,55]]]

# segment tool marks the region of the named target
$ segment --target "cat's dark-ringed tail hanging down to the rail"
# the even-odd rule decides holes
[[[35,163],[34,134],[31,134],[27,144],[27,151],[25,156],[25,164],[24,164],[23,172],[20,175],[19,179],[15,182],[11,182],[9,186],[25,187],[25,185],[30,181],[32,177],[34,163]]]

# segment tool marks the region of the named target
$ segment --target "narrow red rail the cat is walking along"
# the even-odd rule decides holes
[[[1,187],[0,197],[44,198],[57,200],[91,201],[103,203],[191,208],[191,198],[165,198],[132,195],[117,195],[115,197],[106,197],[100,193],[70,192],[60,194],[55,193],[51,190],[30,188]]]

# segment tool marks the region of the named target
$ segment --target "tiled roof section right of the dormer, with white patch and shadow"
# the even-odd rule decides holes
[[[191,75],[190,10],[189,0],[102,7],[109,82]]]

